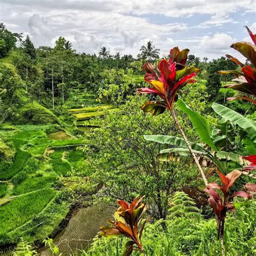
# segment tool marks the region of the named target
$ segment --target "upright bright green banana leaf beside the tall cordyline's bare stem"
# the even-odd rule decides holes
[[[201,116],[201,114],[198,112],[191,110],[190,107],[187,106],[181,99],[177,100],[177,105],[190,118],[193,128],[196,130],[201,142],[204,142],[208,146],[212,147],[212,149],[217,150],[217,147],[214,145],[211,138],[210,125],[208,124],[206,118]]]

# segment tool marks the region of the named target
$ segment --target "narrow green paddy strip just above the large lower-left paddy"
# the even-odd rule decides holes
[[[46,176],[46,177],[30,177],[25,179],[21,184],[14,187],[13,193],[25,194],[35,190],[40,190],[42,188],[50,187],[51,183],[56,180],[56,176]]]

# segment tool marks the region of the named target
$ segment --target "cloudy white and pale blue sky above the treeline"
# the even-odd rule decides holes
[[[106,46],[134,56],[150,40],[165,55],[174,46],[209,59],[235,55],[233,42],[250,41],[243,26],[256,32],[255,12],[256,0],[0,0],[0,21],[35,46],[64,36],[78,52]]]

